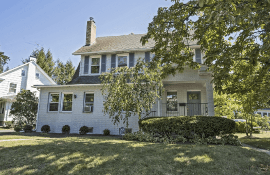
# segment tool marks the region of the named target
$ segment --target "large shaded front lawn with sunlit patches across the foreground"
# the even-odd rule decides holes
[[[270,156],[239,146],[105,137],[0,142],[0,174],[270,174],[260,164]]]

